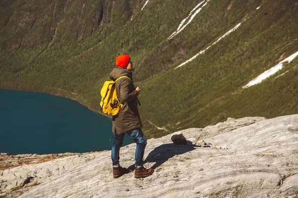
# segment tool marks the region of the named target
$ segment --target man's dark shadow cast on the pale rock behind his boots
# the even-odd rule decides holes
[[[144,160],[144,164],[147,162],[155,162],[155,164],[151,167],[153,169],[157,168],[164,162],[166,162],[169,158],[172,158],[175,155],[180,155],[191,150],[194,150],[196,145],[186,146],[186,145],[175,145],[173,143],[160,145],[154,148],[149,155]],[[129,170],[135,170],[135,164],[128,167]]]

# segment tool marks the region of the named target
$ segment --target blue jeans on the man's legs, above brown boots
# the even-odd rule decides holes
[[[135,152],[135,159],[136,159],[135,166],[136,168],[142,167],[144,152],[147,145],[147,139],[144,133],[142,132],[142,129],[134,129],[126,133],[137,144],[136,152]],[[114,136],[114,144],[112,146],[112,155],[111,155],[114,167],[119,166],[119,159],[120,159],[119,151],[123,144],[124,135],[125,133],[120,135],[116,134]]]

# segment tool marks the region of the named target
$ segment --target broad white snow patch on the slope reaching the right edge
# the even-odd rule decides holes
[[[292,60],[294,60],[294,58],[296,58],[296,56],[298,56],[298,51],[296,53],[290,55],[286,59],[282,60],[281,62],[279,62],[277,65],[275,65],[271,69],[268,69],[267,71],[263,72],[262,74],[260,74],[255,79],[251,80],[247,85],[243,86],[242,88],[248,88],[252,85],[261,83],[264,79],[268,78],[269,76],[272,76],[273,74],[275,74],[276,72],[281,70],[283,68],[284,64],[290,63]]]

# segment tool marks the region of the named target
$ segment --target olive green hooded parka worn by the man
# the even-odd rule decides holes
[[[116,66],[111,72],[111,79],[116,80],[121,76],[127,76],[133,80],[132,71]],[[115,87],[118,99],[123,107],[118,115],[112,117],[113,133],[122,134],[143,127],[138,111],[137,97],[139,92],[133,83],[128,78],[121,78],[115,83]]]

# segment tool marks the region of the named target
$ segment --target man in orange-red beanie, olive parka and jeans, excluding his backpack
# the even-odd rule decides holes
[[[114,144],[112,146],[112,162],[113,162],[113,176],[118,178],[123,174],[128,173],[126,168],[120,166],[119,151],[123,144],[125,133],[137,144],[135,152],[135,178],[148,177],[154,169],[146,169],[143,166],[144,151],[147,145],[147,140],[142,132],[142,122],[138,111],[137,97],[140,94],[140,88],[135,88],[132,83],[133,68],[130,56],[120,55],[116,58],[116,67],[111,73],[111,79],[116,80],[121,76],[128,78],[121,78],[115,83],[116,92],[119,101],[123,104],[122,109],[118,115],[112,117]]]

